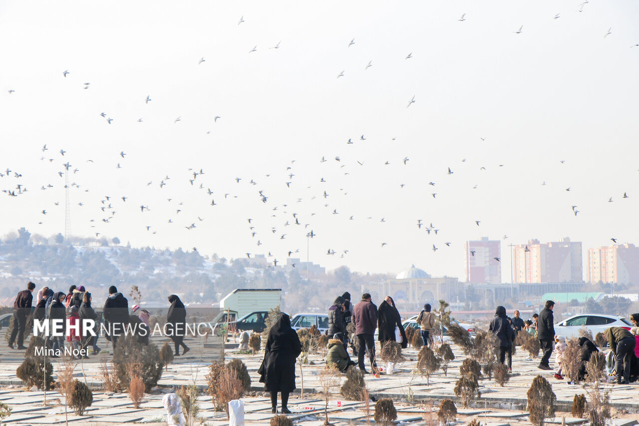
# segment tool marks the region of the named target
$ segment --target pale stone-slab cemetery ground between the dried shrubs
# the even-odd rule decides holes
[[[0,342],[4,342],[3,332],[0,332]],[[168,341],[168,339],[167,339]],[[164,340],[155,339],[154,343],[161,347]],[[166,424],[166,409],[162,405],[162,397],[166,393],[173,393],[180,386],[196,384],[201,390],[199,394],[200,412],[196,424],[228,425],[224,411],[215,411],[211,397],[206,393],[206,379],[208,365],[220,357],[219,344],[203,343],[195,339],[187,339],[191,351],[176,357],[164,371],[157,388],[151,393],[145,393],[139,408],[135,408],[128,393],[111,393],[104,391],[101,382],[100,363],[109,361],[110,344],[100,338],[99,345],[106,351],[90,359],[77,363],[73,376],[84,381],[93,390],[93,403],[86,409],[83,416],[77,416],[71,409],[65,415],[65,398],[57,390],[47,391],[27,388],[16,377],[16,368],[24,359],[24,351],[11,350],[3,347],[0,359],[0,402],[11,407],[11,415],[3,420],[8,425],[40,425],[75,423],[83,425],[117,425],[123,423]],[[169,342],[170,343],[170,342]],[[461,401],[454,394],[454,386],[459,378],[459,367],[466,358],[456,345],[451,345],[455,359],[450,362],[447,375],[440,369],[429,377],[416,374],[415,364],[418,351],[412,347],[402,351],[406,359],[396,365],[394,374],[385,374],[385,365],[380,377],[365,375],[366,388],[376,399],[391,398],[397,409],[395,423],[406,425],[436,425],[437,409],[442,400],[451,399],[455,402],[458,414],[456,422],[450,424],[466,425],[477,419],[482,425],[530,425],[527,409],[527,391],[532,380],[542,375],[552,385],[557,395],[555,418],[546,423],[555,424],[583,424],[587,420],[573,418],[571,406],[576,394],[587,394],[587,386],[583,384],[569,384],[567,379],[559,381],[553,377],[554,371],[544,371],[537,368],[539,359],[531,359],[528,352],[518,348],[512,358],[512,375],[510,380],[500,386],[493,379],[483,377],[479,380],[481,397],[470,400],[467,408],[463,408]],[[379,354],[379,346],[378,346]],[[268,425],[274,414],[268,393],[263,391],[263,384],[258,383],[257,373],[263,351],[259,354],[240,353],[237,345],[227,343],[225,358],[242,359],[245,363],[250,379],[251,388],[248,395],[242,397],[245,404],[245,423],[247,425]],[[309,364],[296,365],[297,390],[291,394],[289,417],[296,425],[319,426],[325,420],[325,399],[321,395],[321,370],[324,365],[324,354],[309,355]],[[351,359],[355,357],[351,354]],[[554,357],[551,358],[553,361]],[[63,363],[60,359],[52,360],[54,379],[61,371]],[[367,368],[369,362],[366,361]],[[552,367],[556,367],[551,362]],[[342,383],[346,379],[341,375]],[[639,418],[639,398],[637,393],[639,384],[601,384],[602,390],[610,391],[610,406],[612,407],[612,422],[615,425],[637,424]],[[46,400],[46,402],[45,402]],[[364,425],[373,424],[374,402],[369,403],[369,415],[364,402],[347,400],[339,393],[339,386],[333,388],[328,402],[328,419],[334,425]]]

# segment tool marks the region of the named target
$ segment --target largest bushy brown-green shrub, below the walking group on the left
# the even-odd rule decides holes
[[[152,388],[157,386],[164,368],[157,345],[153,343],[142,345],[137,342],[136,336],[131,335],[118,338],[111,362],[115,368],[116,377],[118,377],[120,390],[128,389],[127,365],[137,366],[146,392],[150,392]]]

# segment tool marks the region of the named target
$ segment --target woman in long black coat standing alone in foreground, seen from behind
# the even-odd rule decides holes
[[[282,313],[268,332],[264,361],[259,367],[259,382],[271,393],[273,413],[277,413],[277,392],[282,394],[282,413],[289,414],[288,394],[295,390],[295,359],[302,353],[302,343],[291,319]]]

